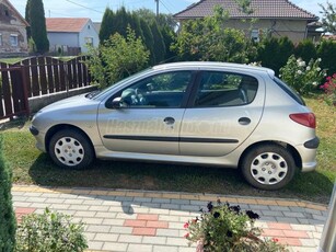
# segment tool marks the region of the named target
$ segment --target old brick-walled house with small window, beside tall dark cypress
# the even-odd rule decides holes
[[[27,55],[28,23],[8,0],[0,0],[0,57]]]

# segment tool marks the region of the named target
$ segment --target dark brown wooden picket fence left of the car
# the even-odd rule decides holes
[[[62,61],[51,57],[0,64],[0,119],[30,114],[28,98],[68,92],[90,85],[85,56]]]

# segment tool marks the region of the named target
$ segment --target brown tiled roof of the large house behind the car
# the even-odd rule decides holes
[[[213,14],[213,7],[221,5],[231,19],[301,19],[317,20],[318,18],[288,0],[251,0],[253,13],[247,15],[239,10],[234,0],[200,0],[187,9],[174,14],[176,19],[197,19]]]

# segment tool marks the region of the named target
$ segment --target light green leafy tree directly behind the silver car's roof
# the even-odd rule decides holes
[[[213,16],[186,21],[172,49],[181,60],[247,62],[252,42],[242,31],[225,28],[227,20],[228,13],[216,7]]]

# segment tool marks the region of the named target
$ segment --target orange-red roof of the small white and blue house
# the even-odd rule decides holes
[[[88,18],[46,18],[47,32],[79,33],[89,20]]]

